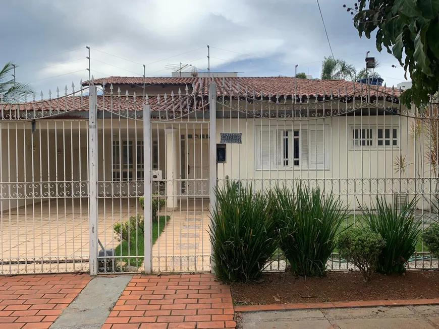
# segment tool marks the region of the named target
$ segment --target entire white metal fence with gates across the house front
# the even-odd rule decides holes
[[[349,206],[346,225],[377,195],[396,207],[418,198],[423,227],[437,221],[436,96],[410,109],[385,87],[276,94],[255,79],[200,79],[168,96],[104,85],[99,96],[89,86],[0,99],[0,274],[209,271],[213,189],[228,179],[319,186]],[[241,144],[220,145],[217,164],[221,133]],[[337,254],[328,266],[348,267]],[[437,260],[420,241],[409,266]]]

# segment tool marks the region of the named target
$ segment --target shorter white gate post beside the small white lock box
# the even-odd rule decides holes
[[[151,195],[151,108],[148,104],[143,105],[143,198],[144,198],[144,241],[145,260],[143,267],[145,273],[152,272],[152,195]]]

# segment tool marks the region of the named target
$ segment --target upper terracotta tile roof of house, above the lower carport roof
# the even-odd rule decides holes
[[[224,93],[226,96],[230,94],[237,96],[238,94],[244,95],[246,88],[248,89],[248,96],[253,97],[253,90],[255,97],[268,97],[271,95],[275,97],[277,94],[279,96],[291,97],[291,95],[296,94],[296,78],[294,77],[230,77],[230,78],[213,78],[216,84],[216,94],[217,96],[222,96],[222,89],[224,84]],[[106,86],[108,84],[113,85],[138,85],[143,86],[143,77],[107,77],[95,79],[94,84],[102,85],[105,82]],[[146,85],[188,85],[192,87],[195,86],[195,90],[198,90],[198,96],[207,95],[207,89],[209,85],[209,78],[198,78],[198,77],[146,77]],[[84,85],[88,85],[88,82],[84,82]],[[239,92],[238,92],[239,86]],[[361,88],[363,88],[363,94],[365,86],[361,87],[359,83],[352,83],[346,80],[308,80],[308,79],[297,79],[297,95],[310,95],[314,97],[316,94],[318,96],[330,95],[331,91],[334,95],[337,95],[338,90],[342,95],[354,93],[354,87],[356,94],[360,94]],[[392,88],[385,88],[383,86],[378,87],[379,93],[392,94]],[[372,86],[371,94],[375,95],[376,87]],[[395,89],[394,95],[399,95],[399,90]]]

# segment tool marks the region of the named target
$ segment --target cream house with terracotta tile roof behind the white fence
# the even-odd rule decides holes
[[[288,77],[212,81],[216,144],[226,150],[226,161],[216,166],[218,184],[229,178],[266,189],[301,179],[340,195],[352,210],[371,205],[376,195],[398,201],[435,191],[435,164],[424,156],[434,151],[433,131],[411,134],[420,119],[399,103],[398,90]],[[210,80],[109,77],[93,83],[103,87],[97,96],[98,193],[143,193],[144,126],[136,117],[143,116],[147,99],[153,192],[167,195],[170,209],[185,198],[208,198]],[[56,109],[52,103],[35,111]],[[87,195],[88,96],[75,94],[61,103],[71,109],[34,121],[2,121],[2,181],[21,183],[6,193]],[[34,108],[28,104],[27,111]],[[124,111],[134,119],[118,115]],[[222,145],[222,134],[241,134],[241,143]],[[32,191],[23,184],[29,178]],[[2,198],[2,207],[26,199],[11,204]]]

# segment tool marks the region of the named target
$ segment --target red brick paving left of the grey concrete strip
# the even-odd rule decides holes
[[[48,328],[90,280],[86,274],[0,276],[0,328]]]

